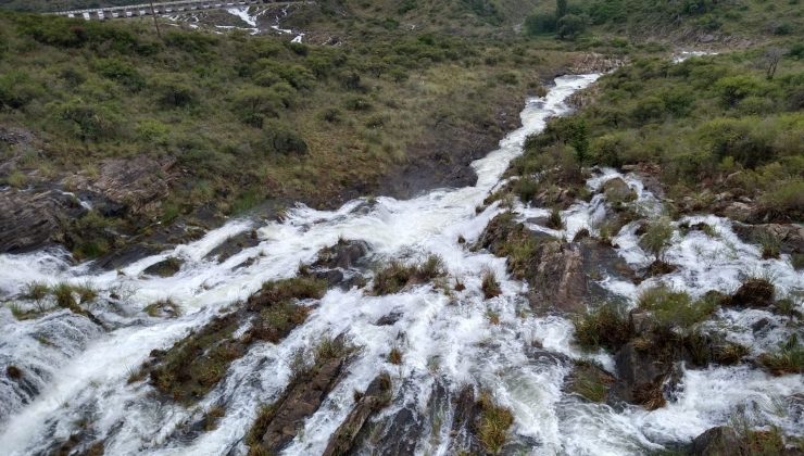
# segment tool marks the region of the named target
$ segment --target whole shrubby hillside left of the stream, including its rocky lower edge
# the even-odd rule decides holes
[[[525,96],[575,58],[516,36],[400,29],[316,47],[172,28],[159,39],[140,21],[0,24],[2,179],[30,190],[22,206],[52,190],[97,200],[88,213],[59,197],[42,204],[68,211],[16,216],[50,220],[48,239],[83,257],[120,248],[121,232],[183,215],[208,226],[198,218],[266,198],[332,207],[469,181],[466,165],[516,126]],[[140,178],[153,169],[154,182]]]

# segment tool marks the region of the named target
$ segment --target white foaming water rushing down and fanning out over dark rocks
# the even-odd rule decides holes
[[[33,280],[90,283],[101,290],[93,313],[113,328],[100,331],[66,311],[26,321],[15,321],[10,312],[0,311],[0,366],[20,366],[36,387],[32,393],[0,379],[2,453],[46,452],[83,429],[89,442],[104,441],[106,454],[243,454],[242,439],[257,406],[276,398],[288,382],[292,354],[299,347],[310,349],[323,334],[342,332],[363,350],[285,454],[321,453],[349,413],[353,391],[364,390],[382,370],[391,372],[394,391],[391,405],[378,419],[403,408],[413,410],[423,428],[417,444],[420,454],[453,451],[451,407],[445,401],[434,406],[431,396],[440,387],[448,396],[454,395],[464,384],[482,387],[508,406],[515,416],[513,440],[533,454],[640,454],[689,441],[709,427],[726,423],[739,410],[756,422],[801,434],[801,413],[781,403],[804,393],[801,377],[771,378],[749,366],[686,371],[678,400],[655,411],[640,407],[615,410],[564,393],[562,384],[571,366],[563,356],[585,356],[571,344],[570,321],[557,315],[528,314],[527,300],[522,296],[526,286],[506,275],[505,259],[470,252],[458,243],[461,236],[469,243],[475,241],[502,211],[494,204],[477,214],[476,206],[500,183],[510,161],[522,153],[525,138],[540,131],[550,116],[567,113],[564,100],[596,77],[557,78],[545,98],[529,100],[522,113],[524,126],[503,139],[500,149],[473,164],[478,175],[474,187],[435,190],[409,201],[356,200],[332,212],[299,206],[282,223],[267,225],[233,220],[199,241],[120,271],[97,274],[91,265],[71,266],[60,251],[0,255],[0,292],[7,296],[16,295]],[[589,186],[596,188],[615,176],[613,170],[601,170]],[[633,176],[625,178],[638,190],[645,211],[661,208]],[[604,205],[601,198],[576,204],[563,213],[567,231],[552,233],[571,238],[580,227],[594,225]],[[543,210],[519,206],[517,212],[526,219]],[[680,268],[661,280],[693,294],[709,289],[732,291],[745,275],[761,268],[772,270],[783,293],[801,291],[802,275],[790,267],[789,258],[761,259],[756,246],[734,237],[729,220],[708,217],[706,221],[720,232],[717,240],[677,232],[667,255]],[[257,230],[259,245],[219,264],[205,259],[215,246],[251,229]],[[635,229],[625,227],[616,242],[620,255],[640,266],[646,256],[636,242]],[[244,300],[262,282],[294,275],[300,263],[312,262],[319,249],[341,237],[368,242],[378,261],[438,254],[451,277],[462,280],[466,289],[456,293],[456,300],[432,284],[387,296],[366,295],[356,288],[330,290],[306,322],[279,344],[252,345],[198,407],[160,400],[146,382],[127,383],[128,375],[151,350],[169,346],[221,309]],[[702,255],[707,259],[701,261]],[[176,276],[141,274],[168,256],[185,259]],[[253,263],[240,267],[250,258]],[[491,300],[483,300],[480,291],[480,278],[487,270],[502,279],[503,293]],[[605,277],[601,283],[631,300],[650,284],[638,288]],[[181,305],[184,316],[161,319],[141,313],[148,304],[166,297]],[[490,311],[499,314],[500,325],[490,324]],[[395,324],[375,325],[390,313],[400,315]],[[774,346],[781,340],[779,334],[756,337],[745,330],[758,318],[777,317],[763,311],[718,315],[723,330],[736,341],[753,343],[755,350]],[[544,351],[535,351],[536,342]],[[386,362],[394,346],[404,353],[401,366]],[[560,356],[550,356],[551,352]],[[606,354],[594,357],[604,366],[613,364]],[[186,423],[214,404],[226,407],[218,427],[194,439],[181,438]]]

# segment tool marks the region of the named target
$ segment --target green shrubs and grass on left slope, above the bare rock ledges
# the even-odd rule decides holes
[[[411,3],[411,14],[424,8]],[[492,4],[450,8],[492,21]],[[0,125],[47,144],[0,179],[22,188],[84,170],[91,178],[100,160],[148,154],[177,160],[183,176],[165,214],[154,204],[143,216],[172,221],[210,200],[222,211],[266,197],[330,205],[346,188],[376,191],[379,176],[434,135],[434,118],[455,130],[494,124],[499,106],[538,77],[513,69],[545,59],[491,38],[387,25],[356,24],[352,46],[316,47],[236,31],[167,29],[160,39],[139,21],[0,12]]]

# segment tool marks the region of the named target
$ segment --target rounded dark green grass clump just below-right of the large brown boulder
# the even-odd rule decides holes
[[[617,302],[607,302],[576,316],[573,322],[575,340],[583,350],[616,350],[631,338],[631,326],[625,306]]]

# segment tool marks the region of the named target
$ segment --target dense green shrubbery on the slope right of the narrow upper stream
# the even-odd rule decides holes
[[[552,166],[561,145],[576,166],[656,163],[674,198],[729,191],[771,216],[801,219],[804,114],[791,103],[801,75],[799,62],[783,60],[767,79],[752,54],[639,60],[602,78],[596,102],[579,115],[529,139],[514,168]]]

